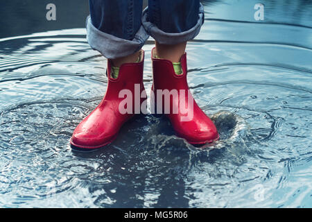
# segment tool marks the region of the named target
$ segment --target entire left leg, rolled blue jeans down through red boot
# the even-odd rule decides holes
[[[141,111],[137,109],[144,91],[144,51],[140,49],[148,38],[141,26],[141,1],[89,0],[89,6],[87,40],[107,58],[107,90],[73,131],[71,147],[83,151],[110,144],[123,123]],[[132,104],[123,104],[123,92],[131,93]]]

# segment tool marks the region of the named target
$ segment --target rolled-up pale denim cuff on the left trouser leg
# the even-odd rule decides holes
[[[124,40],[114,35],[103,33],[92,24],[90,16],[87,17],[86,26],[87,42],[92,49],[99,51],[107,59],[130,56],[139,51],[149,37],[143,26],[139,28],[133,40]]]

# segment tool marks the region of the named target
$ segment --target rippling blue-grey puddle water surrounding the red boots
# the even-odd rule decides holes
[[[100,151],[71,151],[73,129],[107,84],[105,59],[78,28],[85,2],[71,26],[52,28],[35,10],[13,20],[29,16],[37,26],[0,26],[8,37],[0,40],[1,207],[311,207],[312,6],[261,2],[263,22],[253,19],[257,1],[203,1],[206,22],[187,48],[188,78],[221,139],[202,148],[146,115]],[[152,47],[150,39],[147,90]]]

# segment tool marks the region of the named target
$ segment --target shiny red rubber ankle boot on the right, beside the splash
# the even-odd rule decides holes
[[[154,49],[152,51],[153,87],[151,96],[152,99],[155,99],[155,113],[158,113],[157,107],[162,106],[160,112],[166,114],[171,121],[177,136],[187,139],[190,144],[206,144],[216,141],[219,138],[216,126],[198,107],[187,84],[187,53],[184,53],[180,59],[183,74],[177,75],[171,61],[154,58],[153,52]],[[157,96],[157,89],[162,89],[162,91],[158,90],[162,94],[169,92],[169,96],[168,94],[162,96],[160,93],[159,96],[162,97]],[[168,89],[168,91],[164,89]],[[170,112],[164,110],[166,108],[165,97],[170,98],[170,101],[167,99]],[[153,112],[153,107],[151,110]]]

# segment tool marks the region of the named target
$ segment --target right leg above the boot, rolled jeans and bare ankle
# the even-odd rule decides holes
[[[172,62],[179,62],[187,41],[198,35],[204,22],[199,0],[149,0],[145,14],[144,27],[156,40],[155,54]]]

